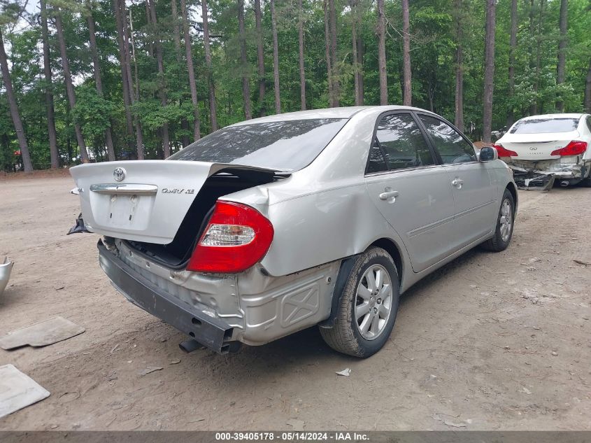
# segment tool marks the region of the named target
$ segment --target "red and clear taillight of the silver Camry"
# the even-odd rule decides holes
[[[218,200],[191,255],[188,271],[242,272],[261,260],[273,241],[273,225],[250,206]]]

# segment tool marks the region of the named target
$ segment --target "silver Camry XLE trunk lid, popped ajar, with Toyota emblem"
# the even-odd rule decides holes
[[[80,164],[70,173],[88,230],[119,239],[169,244],[207,178],[225,169],[276,173],[238,164],[183,160]]]

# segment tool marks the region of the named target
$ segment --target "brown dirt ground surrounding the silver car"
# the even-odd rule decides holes
[[[236,355],[183,353],[183,335],[108,283],[97,236],[66,236],[71,188],[60,174],[0,177],[0,254],[16,263],[0,335],[53,316],[86,328],[0,349],[0,365],[51,392],[0,429],[591,430],[591,265],[574,262],[591,262],[591,189],[520,192],[511,247],[466,253],[408,290],[385,348],[357,360],[315,328]],[[148,366],[163,369],[140,375]]]

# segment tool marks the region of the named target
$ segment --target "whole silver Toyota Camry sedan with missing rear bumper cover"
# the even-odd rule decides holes
[[[248,120],[166,160],[71,174],[113,286],[189,335],[188,351],[318,325],[336,351],[371,356],[400,294],[474,246],[503,251],[517,208],[494,148],[477,155],[404,106]]]

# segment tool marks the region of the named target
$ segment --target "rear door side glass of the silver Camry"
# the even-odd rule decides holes
[[[390,170],[434,164],[431,150],[411,114],[385,115],[378,125],[376,139]]]

